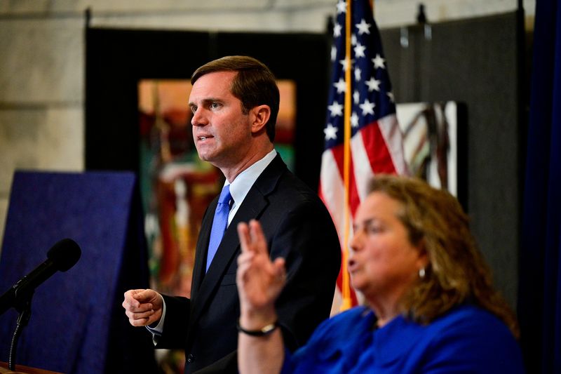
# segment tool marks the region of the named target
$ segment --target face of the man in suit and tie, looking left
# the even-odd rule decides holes
[[[199,78],[189,95],[193,138],[198,156],[224,171],[242,163],[252,140],[250,114],[230,92],[237,72],[214,72]]]

